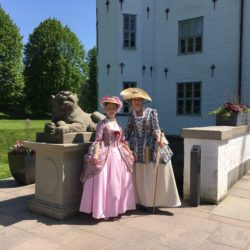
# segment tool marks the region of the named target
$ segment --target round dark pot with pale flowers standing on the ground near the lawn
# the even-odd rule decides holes
[[[30,120],[25,121],[25,138],[30,137]],[[35,182],[36,153],[26,147],[21,141],[16,141],[8,152],[9,168],[12,176],[20,185],[28,185]]]

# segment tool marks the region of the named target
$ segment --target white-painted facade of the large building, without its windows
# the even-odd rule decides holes
[[[106,1],[97,0],[99,96],[119,95],[123,81],[136,81],[138,87],[153,97],[152,106],[158,109],[161,126],[167,133],[179,134],[183,127],[214,124],[213,117],[204,118],[206,114],[237,96],[240,1],[220,0],[214,10],[213,2],[207,0],[126,0],[122,11],[119,1],[110,2],[107,13]],[[246,4],[248,9],[249,5]],[[147,7],[150,7],[149,18]],[[166,8],[170,9],[168,20]],[[137,15],[136,50],[122,48],[123,13]],[[178,21],[199,16],[204,17],[203,53],[177,55]],[[250,17],[246,19],[249,23]],[[250,34],[245,40],[250,51]],[[248,62],[244,68],[243,85],[249,91],[247,57],[244,57]],[[125,63],[123,75],[120,73],[121,62]],[[109,76],[107,63],[111,65]],[[216,66],[213,78],[212,64]],[[146,66],[144,77],[142,65]],[[150,66],[153,66],[152,77]],[[167,79],[163,72],[165,67],[169,69]],[[176,115],[176,83],[185,81],[202,81],[201,116]],[[249,99],[249,95],[244,98]],[[121,117],[124,123],[126,119]]]

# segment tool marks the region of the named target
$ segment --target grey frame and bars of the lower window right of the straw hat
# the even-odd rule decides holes
[[[192,84],[192,96],[191,97],[187,97],[187,91],[186,91],[186,87],[188,84]],[[195,84],[199,84],[200,86],[200,93],[199,93],[199,97],[195,97]],[[183,85],[183,97],[179,97],[179,86]],[[179,105],[178,102],[182,100],[183,101],[183,113],[179,113]],[[186,101],[187,100],[191,100],[192,104],[191,104],[191,113],[187,113],[186,110]],[[199,113],[194,113],[194,102],[196,100],[200,101],[200,112]],[[177,82],[176,84],[176,115],[177,116],[201,116],[202,115],[202,81],[191,81],[191,82]]]

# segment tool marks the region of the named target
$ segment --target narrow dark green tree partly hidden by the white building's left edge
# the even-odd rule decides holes
[[[97,109],[97,50],[96,47],[88,51],[87,66],[88,77],[81,88],[80,105],[86,112]]]

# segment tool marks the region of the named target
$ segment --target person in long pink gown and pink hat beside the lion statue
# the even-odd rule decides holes
[[[120,99],[105,96],[101,105],[107,118],[98,123],[95,141],[85,156],[80,211],[108,219],[136,207],[131,174],[134,157],[115,119]]]

